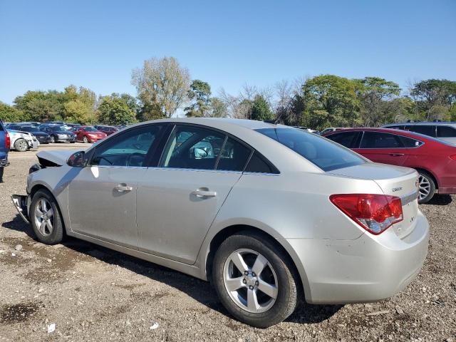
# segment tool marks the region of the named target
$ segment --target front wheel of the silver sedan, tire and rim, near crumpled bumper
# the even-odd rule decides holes
[[[33,232],[43,244],[58,244],[63,239],[63,223],[56,199],[47,190],[38,190],[28,214]]]

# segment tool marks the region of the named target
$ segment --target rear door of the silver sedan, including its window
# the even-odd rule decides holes
[[[138,185],[139,249],[194,264],[251,149],[219,131],[176,125]]]

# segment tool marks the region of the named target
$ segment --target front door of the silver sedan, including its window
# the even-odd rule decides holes
[[[163,126],[126,130],[97,147],[68,187],[73,232],[138,249],[136,193]]]

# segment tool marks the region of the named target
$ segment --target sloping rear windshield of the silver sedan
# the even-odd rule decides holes
[[[312,133],[294,128],[261,128],[257,132],[280,142],[303,156],[323,171],[366,163],[351,150]]]

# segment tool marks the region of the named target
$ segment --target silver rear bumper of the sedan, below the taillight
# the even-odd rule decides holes
[[[305,296],[312,304],[362,303],[397,294],[419,273],[428,241],[429,225],[421,212],[403,239],[388,229],[355,240],[288,240],[306,271]]]

